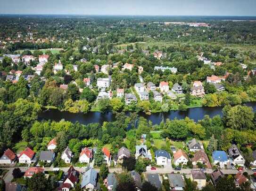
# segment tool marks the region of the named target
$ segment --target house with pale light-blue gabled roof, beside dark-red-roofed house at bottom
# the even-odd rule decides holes
[[[83,174],[81,188],[89,191],[93,191],[97,184],[97,171],[90,168]]]

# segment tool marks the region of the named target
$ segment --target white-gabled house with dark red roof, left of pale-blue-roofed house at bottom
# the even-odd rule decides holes
[[[79,172],[74,169],[73,166],[70,166],[68,171],[64,174],[64,181],[58,190],[69,191],[75,187],[75,184],[79,180]]]

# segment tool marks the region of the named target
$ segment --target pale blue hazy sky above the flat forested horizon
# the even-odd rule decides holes
[[[256,15],[256,0],[0,0],[0,14]]]

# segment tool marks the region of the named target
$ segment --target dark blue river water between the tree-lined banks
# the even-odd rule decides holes
[[[256,110],[256,102],[249,102],[245,105],[252,107],[253,110]],[[126,113],[129,115],[129,112]],[[166,119],[173,120],[174,118],[177,119],[184,119],[185,117],[189,117],[194,121],[198,121],[203,119],[204,115],[209,115],[213,117],[215,115],[223,115],[222,114],[222,107],[194,107],[189,108],[187,111],[170,111],[168,113],[152,113],[151,115],[146,115],[145,113],[138,113],[139,116],[145,117],[147,120],[150,120],[153,124],[159,124],[163,120]],[[98,122],[102,124],[103,122],[112,122],[115,120],[115,115],[112,112],[107,112],[105,114],[99,112],[88,112],[87,114],[83,113],[69,113],[65,111],[59,111],[57,109],[50,109],[47,111],[43,111],[39,113],[38,120],[52,120],[52,121],[60,121],[65,119],[66,121],[70,122],[79,122],[81,124],[89,124],[93,122]]]

